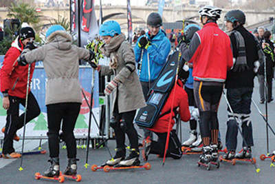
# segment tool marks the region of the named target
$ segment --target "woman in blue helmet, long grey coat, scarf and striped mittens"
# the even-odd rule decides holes
[[[109,65],[98,65],[101,75],[113,75],[104,93],[112,94],[113,117],[110,126],[115,130],[116,153],[106,165],[140,165],[137,131],[133,119],[137,109],[146,106],[142,86],[135,72],[135,55],[131,45],[125,41],[120,25],[107,21],[100,26],[99,34],[104,39],[101,53],[110,58]],[[130,154],[125,159],[125,134],[130,141]]]

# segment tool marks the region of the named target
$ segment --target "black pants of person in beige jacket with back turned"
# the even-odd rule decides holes
[[[76,139],[74,138],[74,126],[80,112],[80,103],[56,103],[47,105],[47,132],[50,157],[59,155],[59,130],[63,131],[63,140],[67,146],[67,158],[76,158]]]

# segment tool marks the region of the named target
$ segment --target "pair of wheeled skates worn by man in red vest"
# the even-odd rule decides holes
[[[216,153],[214,153],[216,154]],[[203,146],[203,153],[199,156],[199,161],[197,162],[198,167],[201,165],[205,166],[209,171],[211,169],[211,165],[216,165],[219,168],[219,160],[215,160],[215,157],[212,157],[212,147],[209,145]]]

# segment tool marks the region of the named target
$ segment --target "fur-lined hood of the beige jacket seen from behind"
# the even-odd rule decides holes
[[[72,48],[72,36],[65,31],[58,30],[47,37],[46,43],[53,45],[58,50],[69,50]]]

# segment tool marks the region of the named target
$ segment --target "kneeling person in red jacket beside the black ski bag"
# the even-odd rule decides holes
[[[144,161],[148,159],[148,154],[159,154],[160,156],[164,156],[170,113],[172,113],[172,120],[170,122],[170,139],[166,156],[170,156],[173,159],[181,158],[181,143],[179,141],[179,138],[177,137],[177,134],[175,133],[175,130],[173,130],[173,125],[175,124],[174,118],[177,113],[180,114],[181,121],[187,122],[190,120],[191,117],[188,105],[188,96],[186,91],[184,90],[184,85],[181,82],[181,80],[188,78],[189,72],[188,66],[185,65],[186,70],[183,70],[183,66],[184,64],[181,63],[179,67],[179,79],[177,80],[177,85],[173,88],[173,90],[171,90],[170,95],[168,96],[168,99],[164,107],[162,108],[162,113],[159,114],[159,119],[157,119],[157,122],[152,128],[148,128],[148,130],[151,130],[152,132],[157,134],[158,139],[157,141],[150,141],[149,139],[144,140],[144,149],[142,150]],[[173,103],[173,109],[177,109],[177,112],[170,112],[174,97],[174,91],[175,99]]]

